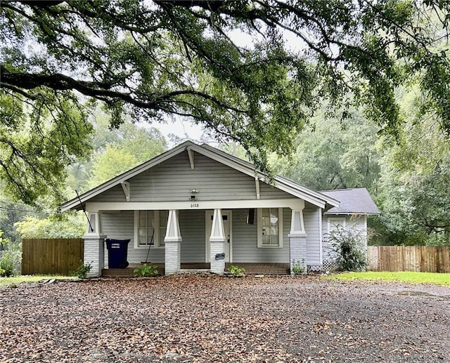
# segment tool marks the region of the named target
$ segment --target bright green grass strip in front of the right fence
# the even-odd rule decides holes
[[[352,281],[352,280],[369,280],[369,281],[387,281],[387,282],[406,282],[407,284],[435,284],[450,286],[450,273],[434,273],[434,272],[345,272],[324,276],[323,279]]]

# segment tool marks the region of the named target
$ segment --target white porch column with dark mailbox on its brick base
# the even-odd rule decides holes
[[[210,261],[211,272],[217,275],[224,275],[225,271],[225,241],[224,220],[222,220],[221,210],[214,209],[210,236]]]

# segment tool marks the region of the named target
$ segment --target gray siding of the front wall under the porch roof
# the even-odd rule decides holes
[[[307,264],[319,265],[319,213],[320,209],[307,206],[304,209],[304,224],[307,231]],[[255,223],[247,224],[248,209],[233,209],[232,239],[233,263],[289,263],[289,238],[291,210],[283,209],[283,248],[264,249],[257,246],[257,210]],[[103,232],[108,238],[131,239],[128,248],[129,263],[146,260],[148,249],[134,248],[134,211],[105,213],[101,215]],[[181,237],[181,262],[205,261],[205,211],[179,211]],[[153,263],[164,263],[164,249],[150,249]],[[105,265],[108,264],[108,251],[105,251]]]

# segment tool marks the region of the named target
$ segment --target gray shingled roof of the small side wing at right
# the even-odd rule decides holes
[[[337,199],[339,206],[326,211],[326,214],[380,214],[365,187],[352,189],[323,190],[321,194]]]

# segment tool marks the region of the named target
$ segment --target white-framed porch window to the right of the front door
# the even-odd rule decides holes
[[[283,209],[258,209],[258,247],[283,247]]]

